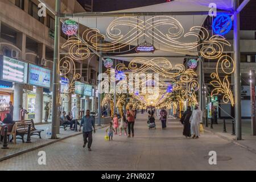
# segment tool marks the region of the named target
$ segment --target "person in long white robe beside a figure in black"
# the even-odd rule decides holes
[[[193,135],[192,138],[199,138],[200,122],[202,121],[202,111],[198,105],[195,106],[195,110],[193,110],[189,121],[191,123],[191,134]]]

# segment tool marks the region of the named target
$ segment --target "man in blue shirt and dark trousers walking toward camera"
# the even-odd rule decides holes
[[[92,132],[95,133],[96,130],[93,117],[90,116],[90,110],[86,110],[86,115],[82,117],[79,131],[81,131],[82,126],[82,136],[84,137],[84,145],[82,147],[85,148],[86,143],[88,143],[88,150],[91,151],[90,147],[92,146]]]

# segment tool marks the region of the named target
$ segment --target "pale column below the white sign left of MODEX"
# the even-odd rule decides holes
[[[14,111],[13,111],[13,120],[20,120],[20,109],[23,105],[23,85],[15,83],[14,84]]]

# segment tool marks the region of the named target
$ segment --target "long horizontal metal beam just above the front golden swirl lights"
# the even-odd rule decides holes
[[[218,13],[232,14],[230,11],[218,11]],[[119,17],[119,16],[157,16],[157,15],[208,15],[209,11],[167,11],[167,12],[117,12],[102,13],[88,12],[75,14],[61,14],[61,18],[93,18],[93,17]]]

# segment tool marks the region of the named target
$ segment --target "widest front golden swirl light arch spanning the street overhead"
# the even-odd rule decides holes
[[[97,28],[88,28],[83,32],[82,40],[69,38],[61,48],[68,47],[73,59],[82,60],[89,57],[90,48],[101,52],[127,52],[134,48],[130,47],[131,44],[146,37],[170,51],[184,51],[200,47],[203,57],[217,59],[222,55],[224,46],[231,46],[223,36],[210,36],[204,27],[194,26],[189,32],[184,33],[181,23],[171,16],[154,16],[147,20],[133,16],[120,17],[109,24],[106,36],[112,42],[100,43],[100,39],[106,39],[105,35],[101,34]],[[194,37],[195,42],[179,41],[181,38],[191,36]]]

